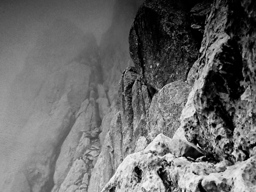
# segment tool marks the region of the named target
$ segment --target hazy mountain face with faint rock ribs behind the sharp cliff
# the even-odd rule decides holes
[[[30,4],[23,3],[21,8],[29,12],[26,6]],[[57,13],[47,9],[50,16],[40,15],[38,20],[31,21],[31,29],[24,29],[24,33],[32,34],[33,30],[36,35],[27,36],[33,37],[30,47],[22,41],[17,45],[21,52],[22,46],[27,48],[19,62],[6,67],[8,62],[1,60],[9,75],[3,75],[7,80],[1,84],[1,192],[64,190],[71,184],[62,185],[63,181],[70,177],[73,164],[80,166],[77,159],[82,158],[84,169],[80,169],[77,180],[82,182],[81,174],[86,173],[89,181],[100,152],[102,121],[114,110],[111,105],[118,97],[122,71],[133,65],[128,35],[141,2],[66,3],[38,3],[39,8],[35,9],[41,14],[44,6],[51,5]],[[12,12],[15,6],[19,3],[3,3],[6,12]],[[24,18],[23,23],[30,22],[31,18]],[[37,28],[33,28],[34,24]],[[4,35],[8,37],[7,33]],[[9,55],[5,51],[10,42],[6,40],[1,54],[2,58],[9,56],[12,60],[15,49]],[[85,159],[89,148],[94,150]]]

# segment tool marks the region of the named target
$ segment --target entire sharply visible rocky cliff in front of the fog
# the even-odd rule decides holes
[[[255,38],[255,1],[145,1],[88,191],[256,191]]]

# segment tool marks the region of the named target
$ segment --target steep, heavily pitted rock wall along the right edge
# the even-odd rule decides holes
[[[256,155],[255,7],[252,1],[215,1],[200,57],[188,74],[195,83],[182,127],[188,141],[217,161]]]

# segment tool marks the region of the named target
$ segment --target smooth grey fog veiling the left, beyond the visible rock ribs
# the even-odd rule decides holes
[[[133,65],[128,36],[141,3],[0,2],[1,192],[52,190],[61,145],[91,84],[104,85],[110,105]]]

